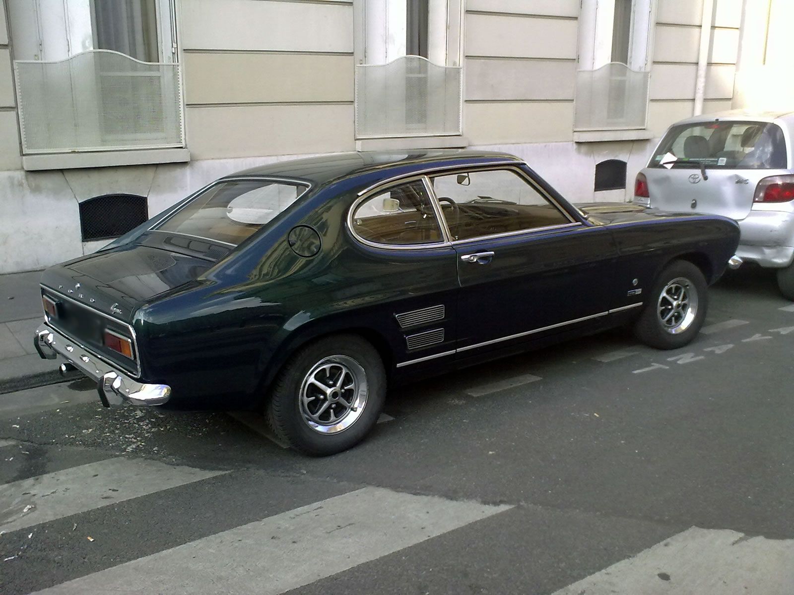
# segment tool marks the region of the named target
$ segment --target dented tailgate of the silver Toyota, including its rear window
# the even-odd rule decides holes
[[[721,120],[673,126],[642,175],[654,208],[742,221],[753,207],[758,182],[790,173],[786,167],[779,126]]]

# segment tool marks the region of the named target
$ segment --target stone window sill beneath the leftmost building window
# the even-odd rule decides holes
[[[188,151],[187,148],[166,148],[138,151],[98,151],[23,155],[22,167],[25,171],[67,170],[79,167],[187,163],[190,160],[191,152]]]

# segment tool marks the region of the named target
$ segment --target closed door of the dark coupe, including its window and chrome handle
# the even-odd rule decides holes
[[[615,245],[515,167],[430,178],[457,253],[457,349],[488,351],[610,309]]]

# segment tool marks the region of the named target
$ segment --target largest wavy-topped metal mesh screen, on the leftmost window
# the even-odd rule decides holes
[[[27,154],[184,144],[179,64],[92,50],[14,70]]]

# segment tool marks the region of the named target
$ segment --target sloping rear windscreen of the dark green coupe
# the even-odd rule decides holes
[[[237,246],[306,192],[271,180],[229,180],[210,186],[156,229]]]

